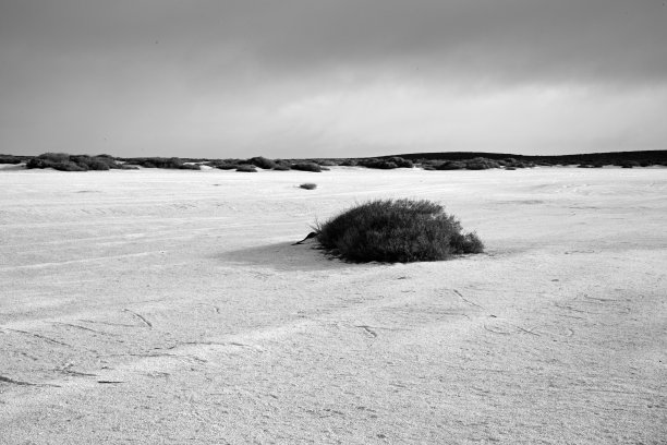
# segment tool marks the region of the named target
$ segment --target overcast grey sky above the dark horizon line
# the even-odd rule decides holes
[[[667,149],[663,0],[0,0],[0,153]]]

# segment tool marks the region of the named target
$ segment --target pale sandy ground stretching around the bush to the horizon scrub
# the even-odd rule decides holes
[[[667,169],[9,169],[0,190],[2,444],[667,443]],[[444,203],[488,252],[290,245],[389,196]]]

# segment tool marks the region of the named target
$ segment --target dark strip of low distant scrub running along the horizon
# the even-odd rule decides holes
[[[667,166],[667,151],[591,153],[562,156],[524,156],[501,153],[413,153],[399,156],[369,158],[312,158],[312,159],[269,159],[256,156],[248,159],[204,159],[177,157],[122,158],[109,155],[69,155],[66,153],[45,153],[39,156],[0,155],[0,164],[22,164],[26,168],[53,168],[62,171],[87,171],[130,169],[132,166],[144,168],[167,168],[179,170],[199,170],[208,166],[220,170],[250,171],[300,170],[320,172],[329,167],[365,167],[392,170],[398,168],[422,168],[424,170],[517,170],[541,166],[577,166],[580,168],[602,168],[617,166],[638,168]],[[258,171],[258,170],[257,170]]]

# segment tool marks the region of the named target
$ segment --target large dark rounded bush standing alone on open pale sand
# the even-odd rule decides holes
[[[325,250],[351,262],[439,261],[484,250],[475,233],[462,233],[459,221],[429,201],[372,201],[316,230]]]

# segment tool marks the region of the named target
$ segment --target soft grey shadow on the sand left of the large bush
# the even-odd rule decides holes
[[[327,255],[316,242],[291,242],[239,249],[216,255],[228,263],[271,267],[276,270],[332,270],[357,266]]]

